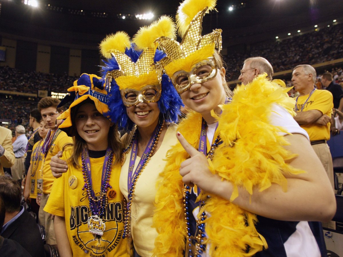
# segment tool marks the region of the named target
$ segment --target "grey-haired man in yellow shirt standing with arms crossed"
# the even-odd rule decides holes
[[[312,148],[321,160],[332,187],[333,167],[329,146],[330,121],[333,108],[333,97],[330,91],[315,88],[317,73],[308,64],[301,64],[293,69],[292,82],[299,92],[296,98],[294,119],[307,131]]]

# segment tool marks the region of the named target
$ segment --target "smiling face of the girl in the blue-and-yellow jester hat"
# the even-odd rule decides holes
[[[108,132],[111,123],[95,108],[94,103],[85,103],[75,114],[75,126],[88,149],[100,151],[108,146]]]

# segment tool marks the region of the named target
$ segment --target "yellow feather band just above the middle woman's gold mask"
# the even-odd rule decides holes
[[[139,76],[120,76],[116,78],[116,82],[119,86],[119,90],[128,88],[141,90],[146,85],[159,85],[157,74],[154,70],[148,74],[141,74]]]

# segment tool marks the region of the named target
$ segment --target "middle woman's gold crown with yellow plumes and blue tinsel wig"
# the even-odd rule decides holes
[[[109,112],[107,115],[119,129],[129,131],[133,122],[128,118],[120,90],[141,90],[146,85],[159,85],[157,101],[163,119],[176,122],[183,105],[163,67],[159,62],[166,55],[157,48],[156,39],[176,38],[176,25],[168,16],[162,16],[150,26],[142,27],[132,42],[125,32],[107,36],[100,44],[100,52],[107,58],[102,73],[106,85],[111,85]],[[131,47],[130,47],[131,43]]]

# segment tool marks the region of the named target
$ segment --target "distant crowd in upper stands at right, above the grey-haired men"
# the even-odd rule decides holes
[[[338,24],[282,41],[261,42],[244,54],[228,52],[224,61],[231,79],[236,80],[246,58],[262,56],[272,64],[274,72],[279,72],[300,63],[316,64],[342,58],[342,41],[343,24]]]

